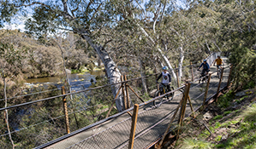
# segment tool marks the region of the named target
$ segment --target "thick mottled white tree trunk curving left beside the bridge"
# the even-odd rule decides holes
[[[97,52],[99,58],[102,60],[104,63],[104,67],[106,70],[106,73],[108,77],[110,77],[110,84],[112,83],[118,83],[121,82],[121,73],[119,72],[116,63],[111,59],[110,55],[107,53],[107,51],[101,46],[101,45],[96,45],[92,43],[91,37],[88,37],[86,35],[82,35],[84,39],[92,46],[92,48]],[[114,97],[117,94],[117,91],[119,89],[121,84],[115,84],[112,86],[112,93]],[[124,109],[124,103],[123,103],[123,98],[122,98],[122,92],[120,92],[120,95],[117,96],[116,98],[116,108],[118,112],[122,112]]]

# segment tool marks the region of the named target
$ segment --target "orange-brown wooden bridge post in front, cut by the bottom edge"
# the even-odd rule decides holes
[[[134,148],[134,137],[135,137],[135,130],[136,130],[138,112],[139,112],[139,105],[134,104],[134,114],[133,114],[133,120],[132,120],[132,128],[131,128],[131,131],[130,131],[130,139],[129,139],[128,149],[133,149]]]

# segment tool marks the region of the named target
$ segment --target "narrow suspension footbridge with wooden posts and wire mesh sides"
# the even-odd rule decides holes
[[[209,64],[217,58],[217,54],[208,56]],[[223,60],[226,61],[227,58],[224,57]],[[200,78],[195,75],[198,66],[190,66],[191,75],[188,82],[174,84],[175,90],[166,94],[174,93],[174,98],[164,100],[161,106],[153,106],[152,101],[164,95],[135,104],[123,112],[105,117],[96,123],[74,130],[55,140],[47,141],[35,148],[150,148],[157,146],[156,144],[163,145],[164,142],[161,139],[166,136],[168,138],[173,132],[176,132],[173,135],[179,135],[179,128],[184,118],[193,116],[201,106],[205,106],[222,89],[229,86],[231,67],[228,63],[225,62],[225,64],[220,78],[217,77],[216,66],[211,66],[206,83],[199,83]],[[123,83],[129,83],[129,81]],[[156,86],[154,88],[156,89]],[[66,95],[72,95],[72,93]],[[131,98],[137,98],[136,96]],[[46,100],[57,97],[50,97]],[[21,106],[26,104],[28,105],[25,103]],[[1,108],[0,111],[14,107],[18,106]]]

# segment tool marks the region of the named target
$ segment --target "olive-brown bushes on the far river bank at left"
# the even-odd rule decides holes
[[[77,35],[66,33],[65,36],[65,38],[59,37],[58,40],[62,41],[60,44],[63,46],[66,68],[81,70],[87,63],[87,56],[84,52],[85,48],[76,47],[78,46],[77,41],[80,40]],[[41,35],[39,39],[36,40],[35,37],[24,32],[18,32],[17,30],[0,30],[0,43],[13,43],[9,45],[13,46],[12,49],[15,49],[17,53],[16,57],[14,57],[15,54],[12,54],[12,60],[15,60],[15,67],[8,69],[8,72],[18,71],[21,72],[24,77],[29,78],[62,75],[62,54],[61,50],[57,47],[56,40],[56,38],[47,37],[47,34]],[[5,51],[5,53],[7,52],[8,51]],[[10,52],[14,51],[9,50],[9,53]],[[20,57],[21,59],[19,59]],[[8,60],[11,59],[8,58]],[[16,67],[18,64],[20,66]],[[81,72],[83,72],[83,70],[81,70]]]

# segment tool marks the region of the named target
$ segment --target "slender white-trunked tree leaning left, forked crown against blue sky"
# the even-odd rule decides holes
[[[150,1],[151,3],[152,1]],[[148,46],[151,46],[152,49],[154,49],[155,53],[158,54],[158,56],[161,57],[161,60],[164,62],[164,65],[170,67],[170,71],[172,73],[172,76],[176,78],[176,73],[173,71],[172,66],[170,65],[170,60],[166,57],[163,50],[160,49],[158,46],[158,34],[156,34],[153,31],[156,31],[156,22],[160,22],[159,18],[163,18],[164,16],[164,10],[165,5],[169,3],[169,0],[166,1],[154,1],[154,3],[151,4],[155,5],[158,4],[158,9],[155,11],[155,9],[146,9],[146,7],[143,5],[143,1],[122,1],[122,3],[116,3],[116,11],[121,12],[120,17],[122,17],[122,20],[126,20],[127,26],[133,26],[133,28],[137,28],[140,30],[137,33],[140,36],[146,37],[147,41],[146,44]],[[163,7],[162,7],[163,6]],[[155,17],[152,18],[152,15],[147,15],[155,13]],[[162,13],[160,13],[162,12]],[[152,13],[152,14],[153,14]],[[161,15],[160,15],[161,14]],[[158,17],[161,16],[161,17]],[[153,24],[151,23],[153,20]],[[160,24],[160,23],[159,23]]]

